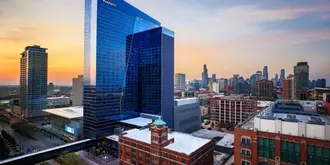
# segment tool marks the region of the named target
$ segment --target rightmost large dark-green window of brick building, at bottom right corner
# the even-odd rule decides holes
[[[308,145],[307,164],[330,164],[330,148]]]

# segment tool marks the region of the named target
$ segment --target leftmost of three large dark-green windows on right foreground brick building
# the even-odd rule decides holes
[[[258,138],[258,156],[267,159],[275,159],[275,140]]]

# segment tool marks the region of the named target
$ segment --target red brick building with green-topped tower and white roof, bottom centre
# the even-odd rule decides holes
[[[212,140],[169,132],[156,120],[149,129],[133,129],[119,136],[119,165],[212,165]]]

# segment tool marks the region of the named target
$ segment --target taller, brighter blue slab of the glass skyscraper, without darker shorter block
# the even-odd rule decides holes
[[[124,96],[127,77],[134,75],[127,72],[128,38],[157,27],[158,21],[123,0],[85,0],[85,138],[112,134],[116,121],[138,115],[139,109],[125,103]]]

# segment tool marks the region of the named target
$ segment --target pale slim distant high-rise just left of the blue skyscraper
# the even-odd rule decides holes
[[[83,104],[83,75],[78,75],[72,79],[72,106],[82,106]]]

